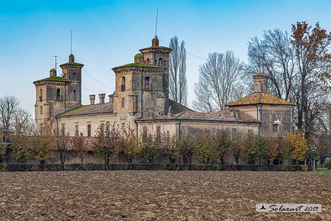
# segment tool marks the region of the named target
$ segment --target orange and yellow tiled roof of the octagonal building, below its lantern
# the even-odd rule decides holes
[[[275,105],[295,105],[287,100],[283,100],[269,92],[256,92],[239,100],[226,104],[226,106],[252,105],[252,104],[275,104]]]

